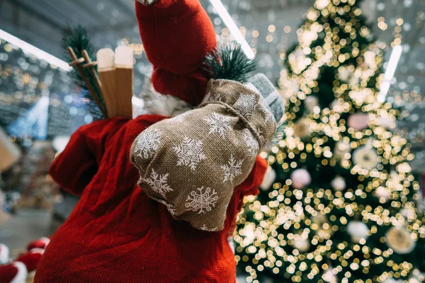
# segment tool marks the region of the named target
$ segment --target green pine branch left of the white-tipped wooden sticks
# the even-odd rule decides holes
[[[83,50],[86,50],[86,52],[89,54],[89,57],[91,59],[95,58],[95,51],[94,51],[93,45],[91,45],[90,37],[87,33],[87,30],[83,28],[81,25],[77,25],[74,28],[68,27],[67,30],[64,31],[64,34],[62,35],[62,47],[64,48],[64,50],[67,50],[68,47],[72,47],[72,50],[74,50],[74,53],[77,55],[77,58],[83,57],[82,55]],[[66,52],[66,57],[69,62],[72,61],[72,59],[69,57],[68,52]],[[103,105],[103,109],[106,109],[105,103],[103,101],[103,97],[101,96],[101,92],[96,87],[96,83],[94,83],[94,78],[91,75],[89,69],[84,69],[84,72],[86,74],[86,77],[89,79],[91,86],[93,86],[94,91],[96,92],[94,95],[97,96],[98,100]],[[90,101],[89,109],[90,109],[91,115],[93,115],[96,119],[102,119],[103,118],[102,112],[98,108],[98,105],[96,105],[96,103],[94,102],[94,98],[91,96],[79,72],[73,69],[72,76],[74,77],[74,80],[76,81],[76,83],[79,86],[81,86],[81,96],[83,96],[83,98],[86,98]]]

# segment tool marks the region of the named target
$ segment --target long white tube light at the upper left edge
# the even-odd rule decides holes
[[[57,66],[60,69],[63,69],[64,71],[71,70],[71,67],[69,67],[69,64],[67,62],[64,62],[63,60],[53,56],[52,54],[40,50],[34,45],[30,45],[28,42],[25,42],[19,39],[18,37],[11,35],[10,33],[6,33],[4,30],[0,30],[0,38],[21,48],[23,52],[33,54],[35,57],[38,57],[38,59],[45,60],[49,64]]]

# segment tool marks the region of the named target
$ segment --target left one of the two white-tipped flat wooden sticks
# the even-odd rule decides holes
[[[103,100],[105,100],[108,117],[117,117],[116,81],[114,53],[110,48],[98,50],[98,75],[101,80]]]

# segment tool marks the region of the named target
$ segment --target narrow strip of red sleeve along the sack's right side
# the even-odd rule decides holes
[[[264,175],[267,171],[267,161],[260,156],[256,157],[254,168],[244,183],[234,189],[232,200],[227,207],[227,223],[225,226],[230,227],[229,231],[234,231],[236,226],[236,216],[241,211],[246,195],[258,195],[259,187],[263,182]]]

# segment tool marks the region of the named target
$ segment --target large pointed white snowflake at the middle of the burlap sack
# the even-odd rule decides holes
[[[178,158],[177,166],[188,166],[195,171],[198,163],[207,158],[203,153],[202,146],[202,141],[185,137],[181,144],[173,147]]]

